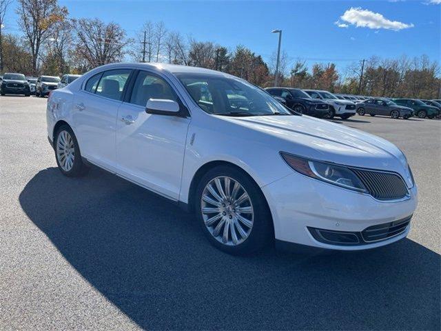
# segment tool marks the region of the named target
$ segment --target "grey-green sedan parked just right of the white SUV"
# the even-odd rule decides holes
[[[393,119],[402,117],[409,119],[413,116],[413,110],[409,107],[399,106],[393,101],[387,99],[368,99],[357,103],[357,113],[361,116],[369,114],[371,116],[384,115]]]

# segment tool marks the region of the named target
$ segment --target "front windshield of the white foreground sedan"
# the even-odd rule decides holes
[[[276,99],[256,86],[218,74],[177,73],[194,101],[209,114],[225,116],[291,115]]]

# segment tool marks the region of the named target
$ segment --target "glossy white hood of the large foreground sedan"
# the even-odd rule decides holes
[[[249,128],[249,139],[278,151],[360,168],[398,172],[407,180],[407,159],[393,143],[373,134],[308,116],[222,117]],[[254,133],[253,132],[253,133]],[[242,133],[243,134],[243,133]]]

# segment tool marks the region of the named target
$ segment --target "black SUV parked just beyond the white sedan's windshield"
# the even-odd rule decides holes
[[[284,99],[286,106],[294,112],[325,119],[331,116],[328,103],[312,99],[309,94],[298,88],[265,88],[265,90],[274,97]]]

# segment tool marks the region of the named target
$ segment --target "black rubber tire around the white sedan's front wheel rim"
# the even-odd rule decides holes
[[[240,185],[242,185],[249,194],[254,208],[252,232],[249,234],[249,237],[243,241],[243,243],[235,246],[224,245],[223,243],[217,241],[205,226],[201,212],[201,197],[205,185],[207,185],[207,183],[209,183],[209,181],[212,179],[220,176],[231,177],[235,181],[238,181],[238,183],[240,183]],[[271,213],[269,212],[267,201],[263,196],[262,191],[256,182],[249,177],[249,175],[243,172],[243,170],[239,170],[232,166],[218,165],[217,167],[208,170],[208,172],[202,177],[198,187],[196,188],[194,211],[205,237],[207,237],[212,245],[223,252],[235,255],[250,254],[260,250],[274,239],[274,228],[272,225]]]

